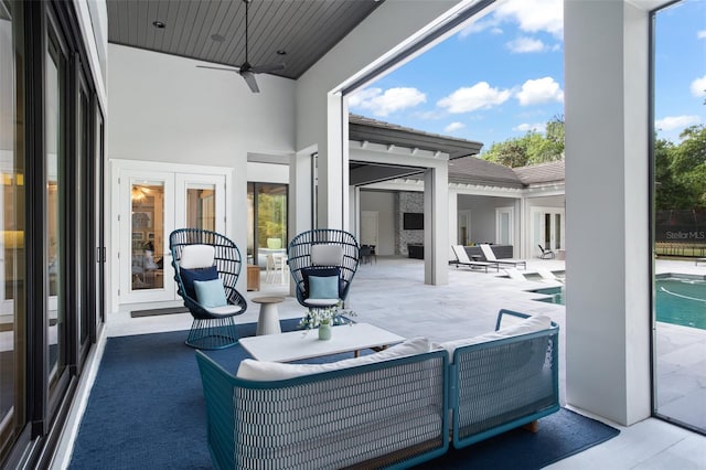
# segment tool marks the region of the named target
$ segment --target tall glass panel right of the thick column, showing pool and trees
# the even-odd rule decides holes
[[[650,182],[653,412],[702,434],[706,434],[706,68],[703,56],[695,61],[674,51],[704,50],[705,19],[702,0],[684,0],[654,13]]]

